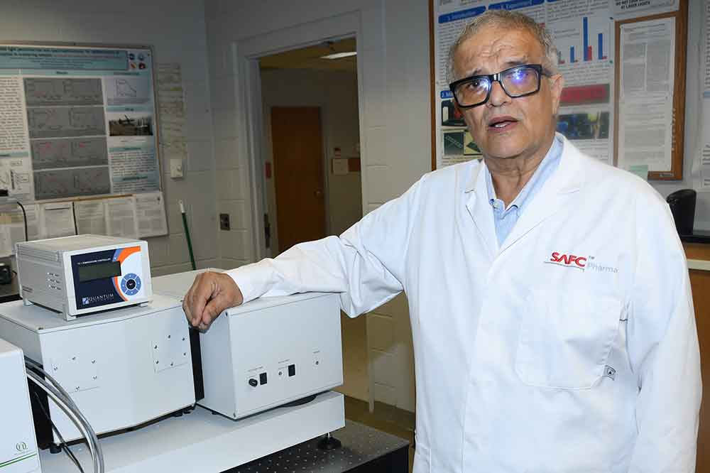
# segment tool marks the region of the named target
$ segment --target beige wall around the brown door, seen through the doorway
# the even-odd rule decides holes
[[[362,217],[360,173],[334,175],[333,148],[343,157],[359,156],[357,76],[335,70],[268,69],[261,71],[264,116],[264,154],[273,163],[271,107],[320,107],[324,153],[324,183],[327,187],[327,234],[341,234]],[[266,180],[268,213],[271,216],[271,256],[278,251],[275,183]]]

